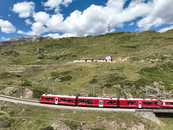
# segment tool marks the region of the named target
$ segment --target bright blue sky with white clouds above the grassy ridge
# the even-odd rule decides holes
[[[173,0],[1,0],[0,40],[173,29]]]

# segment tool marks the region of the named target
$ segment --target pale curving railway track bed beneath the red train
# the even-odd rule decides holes
[[[36,107],[44,107],[57,110],[76,110],[76,111],[97,111],[97,112],[154,112],[154,113],[173,113],[173,109],[122,109],[122,108],[94,108],[94,107],[78,107],[41,104],[38,100],[21,99],[11,96],[0,95],[0,101],[11,102],[15,104],[23,104]]]

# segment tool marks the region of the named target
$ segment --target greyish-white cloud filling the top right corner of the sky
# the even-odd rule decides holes
[[[153,0],[150,4],[151,11],[146,17],[139,21],[138,27],[142,30],[149,30],[151,27],[161,24],[173,23],[173,0]]]

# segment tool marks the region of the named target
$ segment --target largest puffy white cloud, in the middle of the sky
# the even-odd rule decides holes
[[[108,27],[113,30],[124,22],[145,16],[151,10],[150,5],[140,2],[123,9],[124,0],[109,0],[106,6],[91,5],[83,12],[74,11],[63,21],[65,33],[79,36],[104,34]]]

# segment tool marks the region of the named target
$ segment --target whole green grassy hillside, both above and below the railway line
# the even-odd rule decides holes
[[[82,58],[99,59],[108,55],[113,57],[112,63],[73,63]],[[25,89],[33,92],[30,98],[39,98],[43,93],[172,98],[173,31],[43,38],[1,45],[0,93],[20,97],[25,96]],[[17,130],[54,130],[49,125],[59,121],[63,122],[60,126],[68,126],[67,130],[112,130],[107,125],[98,125],[100,120],[102,124],[116,122],[117,130],[141,130],[143,126],[142,130],[158,130],[155,123],[128,113],[87,113],[84,118],[83,112],[7,103],[0,103],[0,108],[0,129],[5,119],[7,128]],[[164,130],[172,130],[172,119],[161,120],[169,124]]]

